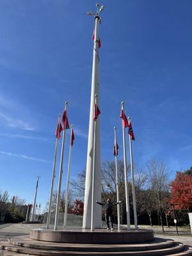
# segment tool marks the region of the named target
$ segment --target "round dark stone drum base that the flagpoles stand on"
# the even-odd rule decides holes
[[[141,243],[154,240],[153,230],[127,230],[121,229],[108,231],[98,228],[94,231],[89,229],[65,229],[46,230],[35,228],[30,232],[30,238],[38,241],[56,243],[79,243],[79,244],[127,244]]]

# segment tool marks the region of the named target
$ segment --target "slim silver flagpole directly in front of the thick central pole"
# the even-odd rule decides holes
[[[97,94],[95,94],[95,105],[97,106]],[[95,108],[93,104],[93,108]],[[94,115],[94,111],[93,111]],[[94,120],[94,133],[93,133],[93,174],[92,174],[92,218],[91,218],[91,231],[94,231],[94,223],[93,223],[93,207],[94,207],[94,182],[95,182],[95,136],[96,136],[96,122],[97,120]]]

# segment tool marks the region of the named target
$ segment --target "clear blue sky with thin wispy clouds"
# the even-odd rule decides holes
[[[86,11],[95,10],[95,1],[0,3],[0,189],[32,202],[40,175],[37,201],[45,205],[57,115],[66,100],[76,134],[72,179],[86,165],[93,51],[93,17]],[[136,137],[134,161],[144,166],[156,157],[173,173],[189,168],[191,1],[100,4],[106,6],[100,26],[102,161],[113,159],[114,125],[122,157],[119,114],[124,100]],[[69,135],[66,143],[63,188]]]

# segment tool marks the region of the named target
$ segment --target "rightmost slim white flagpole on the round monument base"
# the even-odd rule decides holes
[[[131,120],[128,118],[128,122],[130,124]],[[138,229],[138,217],[137,217],[137,209],[136,209],[136,196],[135,196],[135,188],[134,188],[134,170],[133,170],[133,161],[132,161],[132,139],[129,134],[129,150],[130,150],[130,163],[131,163],[131,179],[132,179],[132,204],[133,204],[133,212],[134,212],[134,228]]]

